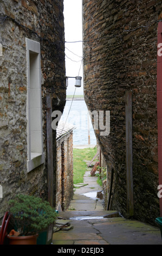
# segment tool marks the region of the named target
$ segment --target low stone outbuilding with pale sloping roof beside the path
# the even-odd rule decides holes
[[[56,209],[66,210],[73,198],[73,125],[59,122],[56,130]]]

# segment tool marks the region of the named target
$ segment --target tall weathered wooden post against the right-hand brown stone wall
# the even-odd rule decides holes
[[[133,199],[133,149],[132,149],[132,92],[126,92],[126,181],[127,215],[134,215]]]

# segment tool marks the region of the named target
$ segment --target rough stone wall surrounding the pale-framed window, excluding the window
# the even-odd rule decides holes
[[[16,193],[47,197],[46,95],[51,93],[53,111],[66,103],[64,80],[63,0],[1,1],[1,164],[0,218]],[[3,19],[2,19],[3,18]],[[25,38],[40,42],[43,150],[45,162],[27,173],[27,52]],[[56,132],[53,131],[54,180],[56,179]],[[56,182],[54,182],[56,192]],[[55,204],[55,202],[54,202]]]

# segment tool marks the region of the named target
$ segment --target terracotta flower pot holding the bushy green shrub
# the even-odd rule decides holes
[[[7,236],[9,239],[9,245],[36,245],[37,237],[36,235],[28,235],[28,236]]]

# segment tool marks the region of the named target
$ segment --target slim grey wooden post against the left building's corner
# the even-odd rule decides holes
[[[51,127],[51,114],[52,114],[52,101],[51,94],[47,94],[47,168],[48,168],[48,202],[53,207],[53,197],[54,197],[54,173],[53,173],[53,130]]]

